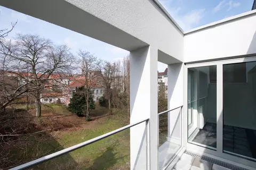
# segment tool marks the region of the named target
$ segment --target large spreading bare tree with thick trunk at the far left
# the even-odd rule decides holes
[[[17,35],[15,43],[6,51],[3,54],[11,61],[8,72],[19,78],[19,86],[6,97],[7,102],[3,106],[30,92],[35,98],[36,116],[40,117],[42,89],[63,86],[52,83],[59,79],[52,79],[51,75],[69,73],[73,70],[75,57],[67,46],[54,46],[49,39],[37,35]]]

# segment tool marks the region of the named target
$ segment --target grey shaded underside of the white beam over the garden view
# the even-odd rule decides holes
[[[0,5],[129,51],[148,45],[66,1],[0,0]]]

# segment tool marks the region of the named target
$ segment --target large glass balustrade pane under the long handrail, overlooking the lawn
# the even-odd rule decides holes
[[[27,169],[130,169],[130,129]]]

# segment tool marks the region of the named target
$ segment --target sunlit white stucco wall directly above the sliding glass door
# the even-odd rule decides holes
[[[185,34],[184,62],[256,53],[256,12]]]

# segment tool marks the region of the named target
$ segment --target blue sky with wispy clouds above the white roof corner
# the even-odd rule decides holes
[[[159,0],[172,18],[187,31],[251,11],[253,0]]]

